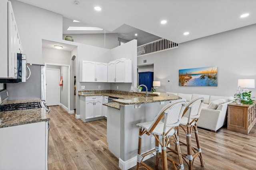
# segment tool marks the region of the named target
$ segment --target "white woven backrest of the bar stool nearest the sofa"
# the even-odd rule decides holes
[[[197,98],[192,99],[188,104],[186,104],[183,116],[188,117],[188,123],[190,123],[192,119],[199,118],[203,103],[204,96],[199,96]],[[188,115],[184,115],[187,111]]]

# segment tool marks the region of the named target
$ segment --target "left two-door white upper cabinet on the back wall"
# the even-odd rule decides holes
[[[108,64],[82,61],[80,82],[108,82]]]

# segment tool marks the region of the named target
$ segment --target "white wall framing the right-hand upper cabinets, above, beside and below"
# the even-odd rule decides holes
[[[134,89],[137,86],[137,40],[134,39],[111,49],[111,53],[111,61],[121,58],[132,59],[132,83],[111,83],[111,90],[130,92],[131,86],[133,86]]]

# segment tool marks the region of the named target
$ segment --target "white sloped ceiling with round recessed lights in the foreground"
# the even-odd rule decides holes
[[[78,0],[80,5],[74,0],[19,1],[111,32],[126,24],[176,43],[256,23],[256,0]],[[250,16],[240,18],[245,13]]]

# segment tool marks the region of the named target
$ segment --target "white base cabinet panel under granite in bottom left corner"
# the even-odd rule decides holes
[[[0,128],[1,170],[47,170],[48,122]]]

